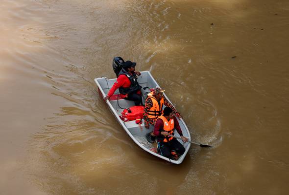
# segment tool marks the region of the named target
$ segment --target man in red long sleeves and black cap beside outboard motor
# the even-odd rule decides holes
[[[140,76],[141,73],[135,71],[136,65],[136,62],[131,62],[129,60],[124,62],[117,81],[114,83],[107,96],[104,98],[105,101],[109,99],[117,89],[119,89],[121,98],[134,101],[136,106],[141,104],[142,86],[140,86],[137,81],[137,76]]]

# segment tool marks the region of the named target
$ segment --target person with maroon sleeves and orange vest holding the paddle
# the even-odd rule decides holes
[[[161,155],[168,158],[173,158],[173,156],[171,156],[172,150],[176,152],[177,156],[184,154],[186,151],[184,146],[176,138],[169,136],[173,135],[174,129],[177,130],[183,142],[188,141],[188,138],[183,136],[179,122],[176,117],[173,116],[172,109],[166,107],[164,114],[156,120],[153,132],[157,137],[158,149]]]

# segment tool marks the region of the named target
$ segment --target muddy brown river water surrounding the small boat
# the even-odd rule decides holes
[[[287,195],[288,0],[1,0],[0,195]],[[149,70],[196,142],[169,164],[97,94]]]

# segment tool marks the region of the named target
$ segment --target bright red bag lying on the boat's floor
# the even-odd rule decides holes
[[[120,118],[123,121],[131,121],[136,120],[138,118],[143,118],[145,112],[144,109],[145,109],[144,106],[132,106],[129,108],[131,112],[129,112],[128,109],[124,109],[121,113]]]

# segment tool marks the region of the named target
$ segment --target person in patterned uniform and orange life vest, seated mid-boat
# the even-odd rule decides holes
[[[164,97],[163,92],[165,90],[156,87],[154,91],[147,94],[147,98],[145,100],[145,113],[144,113],[144,121],[145,128],[149,128],[149,124],[154,125],[157,118],[162,115],[163,105],[172,109],[173,113],[181,118],[180,113],[176,111],[176,109],[171,105],[167,98]],[[146,140],[149,143],[154,143],[155,136],[153,132],[149,132],[145,135]]]

